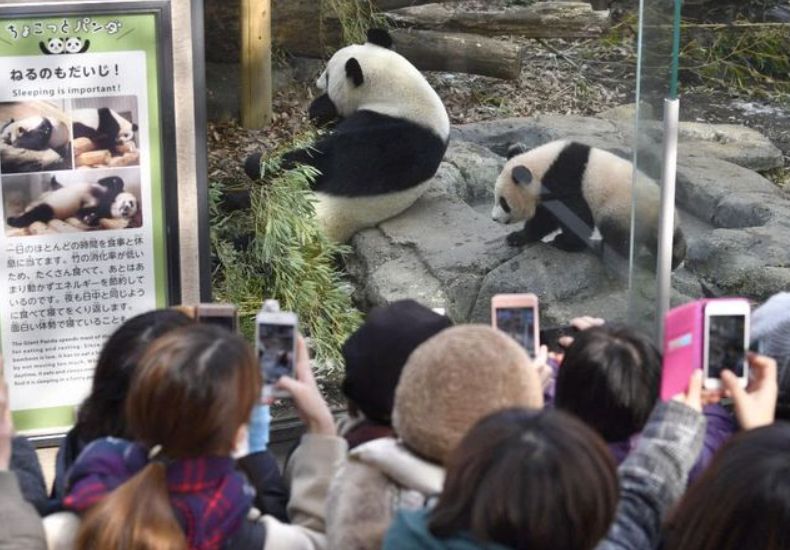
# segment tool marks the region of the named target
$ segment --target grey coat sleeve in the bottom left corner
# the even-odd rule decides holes
[[[12,471],[0,472],[0,550],[46,550],[41,517]]]

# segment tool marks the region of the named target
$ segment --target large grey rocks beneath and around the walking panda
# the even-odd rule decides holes
[[[535,147],[576,139],[630,158],[633,129],[625,130],[627,109],[605,117],[552,115],[453,128],[447,155],[425,196],[354,238],[349,272],[359,300],[386,305],[412,297],[446,308],[456,322],[488,323],[494,294],[534,292],[547,328],[589,313],[651,330],[654,274],[641,268],[633,274],[642,314],[631,312],[629,319],[623,260],[592,251],[563,252],[546,243],[513,249],[505,237],[520,228],[489,218],[494,181],[514,142]],[[790,288],[790,196],[754,171],[722,160],[735,160],[728,148],[739,141],[763,146],[767,140],[741,127],[707,124],[686,125],[682,139],[677,204],[689,251],[673,274],[671,304],[720,295],[762,300]],[[656,169],[657,157],[653,163]]]

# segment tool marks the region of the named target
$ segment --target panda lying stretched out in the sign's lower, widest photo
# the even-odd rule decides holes
[[[53,176],[50,188],[49,193],[31,203],[25,212],[8,218],[8,225],[27,227],[34,222],[76,217],[87,225],[96,226],[102,218],[131,219],[137,214],[137,198],[124,192],[124,181],[117,176],[102,178],[96,183],[65,186]]]

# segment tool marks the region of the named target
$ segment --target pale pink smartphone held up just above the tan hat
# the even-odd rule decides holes
[[[538,355],[538,297],[534,294],[497,294],[491,298],[491,324],[521,344],[530,357]]]

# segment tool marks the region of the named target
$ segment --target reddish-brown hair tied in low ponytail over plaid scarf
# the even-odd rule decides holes
[[[228,456],[260,398],[261,374],[244,339],[192,325],[146,350],[129,388],[130,434],[166,460]],[[77,550],[185,550],[170,505],[164,462],[151,461],[85,516]]]

